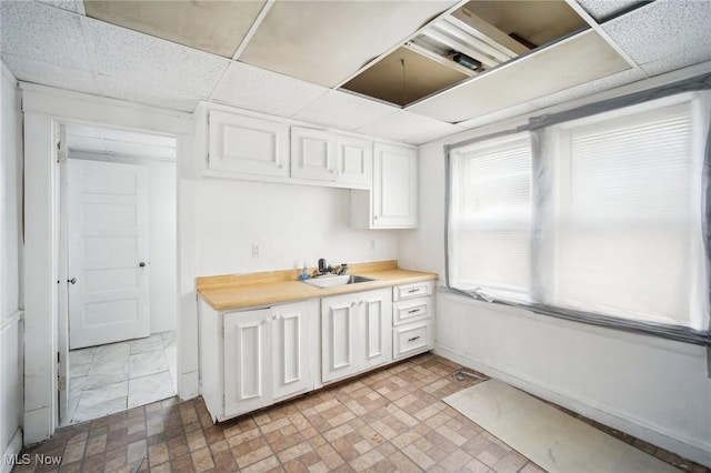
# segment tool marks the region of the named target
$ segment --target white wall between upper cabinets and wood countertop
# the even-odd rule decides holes
[[[194,192],[199,276],[398,259],[397,231],[350,228],[344,189],[203,178]]]

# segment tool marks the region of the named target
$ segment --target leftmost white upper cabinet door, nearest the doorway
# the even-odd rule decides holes
[[[287,124],[211,110],[209,129],[211,170],[289,177]]]

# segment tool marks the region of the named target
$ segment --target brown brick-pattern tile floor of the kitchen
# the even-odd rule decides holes
[[[478,382],[452,380],[460,368],[427,353],[217,425],[201,397],[172,397],[60,429],[23,453],[60,455],[61,466],[14,471],[541,472],[441,401]],[[680,470],[710,472],[581,419]]]

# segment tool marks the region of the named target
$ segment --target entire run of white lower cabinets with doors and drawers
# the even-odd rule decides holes
[[[223,312],[200,300],[200,392],[212,419],[430,350],[432,288],[423,281]]]

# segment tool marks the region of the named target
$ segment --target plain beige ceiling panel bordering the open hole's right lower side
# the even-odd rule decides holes
[[[474,77],[408,110],[447,122],[481,117],[600,79],[630,66],[589,30]]]

